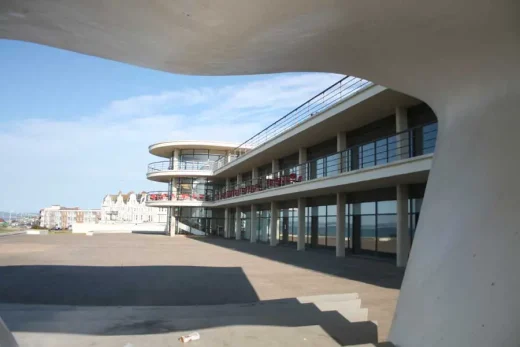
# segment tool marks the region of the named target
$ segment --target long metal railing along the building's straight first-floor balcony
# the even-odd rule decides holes
[[[214,193],[214,201],[433,153],[436,138],[437,123],[411,128],[265,177],[234,184],[227,189],[221,188]]]

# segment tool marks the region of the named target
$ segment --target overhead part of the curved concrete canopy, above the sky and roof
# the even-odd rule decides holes
[[[516,0],[3,0],[0,38],[184,74],[339,72],[429,103],[518,78],[519,13]]]

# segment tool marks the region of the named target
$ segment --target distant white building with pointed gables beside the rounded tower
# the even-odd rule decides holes
[[[166,223],[167,208],[146,206],[146,193],[109,194],[101,205],[101,223]]]

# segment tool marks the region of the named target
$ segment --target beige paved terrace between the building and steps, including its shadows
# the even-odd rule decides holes
[[[357,292],[384,341],[402,276],[386,262],[220,238],[0,237],[0,315],[6,303],[216,305]]]

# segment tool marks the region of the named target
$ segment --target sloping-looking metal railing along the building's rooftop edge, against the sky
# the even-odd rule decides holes
[[[213,170],[223,167],[248,151],[372,85],[372,82],[357,77],[346,76],[342,78],[242,143],[231,152],[229,157],[224,156],[215,161]]]

